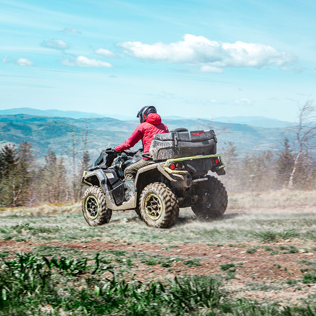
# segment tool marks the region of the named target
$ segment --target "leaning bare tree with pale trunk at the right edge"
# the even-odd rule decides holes
[[[293,178],[297,168],[297,163],[303,152],[304,147],[308,147],[308,143],[314,141],[316,136],[316,106],[313,100],[307,100],[303,106],[299,106],[298,124],[289,128],[295,133],[298,143],[298,152],[296,154],[293,169],[289,178],[288,188],[293,188]]]

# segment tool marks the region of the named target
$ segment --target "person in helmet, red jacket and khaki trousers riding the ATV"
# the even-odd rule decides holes
[[[115,151],[120,152],[122,150],[130,149],[142,140],[144,153],[148,153],[154,135],[169,133],[167,126],[161,123],[161,117],[157,114],[155,106],[144,106],[138,112],[137,117],[140,120],[140,124],[127,141],[114,148]],[[137,171],[148,164],[148,158],[144,157],[125,169],[124,176],[128,187],[134,185]]]

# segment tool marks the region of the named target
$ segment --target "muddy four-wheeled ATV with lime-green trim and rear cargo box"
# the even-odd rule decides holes
[[[83,172],[82,183],[89,186],[82,198],[85,220],[96,226],[109,222],[112,210],[135,210],[148,226],[167,228],[176,222],[179,207],[189,206],[201,218],[222,216],[227,191],[220,180],[207,174],[225,174],[216,143],[213,130],[178,128],[154,135],[149,153],[103,150],[94,167]],[[143,157],[150,160],[149,165],[138,170],[131,190],[124,169]]]

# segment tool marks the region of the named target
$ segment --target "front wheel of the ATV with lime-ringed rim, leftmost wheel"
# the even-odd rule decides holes
[[[98,186],[89,186],[82,197],[82,213],[90,226],[108,223],[112,210],[107,208],[103,191]]]

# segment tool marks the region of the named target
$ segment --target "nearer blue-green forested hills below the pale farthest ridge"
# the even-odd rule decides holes
[[[78,148],[81,148],[82,135],[88,125],[89,152],[95,159],[100,151],[114,147],[125,141],[136,128],[137,121],[120,121],[112,118],[71,119],[67,117],[47,117],[28,114],[0,115],[0,147],[6,143],[32,142],[40,159],[48,148],[60,155],[71,146],[71,133],[74,130]],[[189,130],[214,129],[218,139],[218,152],[225,143],[234,142],[239,158],[251,155],[255,150],[278,150],[282,128],[263,128],[245,124],[214,122],[205,119],[164,119],[169,130],[186,127]],[[135,146],[142,147],[141,143]]]

